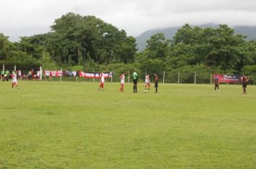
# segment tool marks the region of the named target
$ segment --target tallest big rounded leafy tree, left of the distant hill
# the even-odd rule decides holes
[[[62,64],[133,62],[137,51],[133,37],[127,37],[95,16],[68,13],[55,20],[47,51]]]

